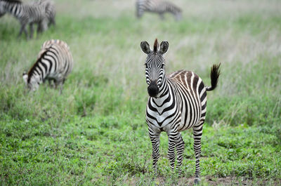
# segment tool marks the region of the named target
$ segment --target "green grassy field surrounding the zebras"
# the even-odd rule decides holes
[[[166,133],[159,176],[145,124],[148,99],[141,41],[169,41],[166,71],[189,69],[218,88],[208,93],[202,185],[281,185],[281,1],[174,1],[183,20],[145,14],[134,1],[56,1],[57,26],[17,39],[0,18],[0,185],[192,185],[192,132],[183,178],[171,172]],[[62,39],[74,56],[63,94],[27,93],[22,72],[41,44]]]

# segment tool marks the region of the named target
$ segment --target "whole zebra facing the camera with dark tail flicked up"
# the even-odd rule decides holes
[[[152,142],[153,169],[157,173],[159,159],[159,135],[162,131],[169,138],[169,161],[174,171],[175,147],[178,164],[176,170],[181,173],[184,142],[181,131],[193,129],[194,150],[196,158],[195,183],[200,181],[201,136],[206,115],[207,92],[216,88],[220,65],[211,68],[211,86],[204,86],[200,77],[194,72],[180,70],[165,75],[164,53],[168,51],[168,41],[160,44],[155,40],[153,51],[148,42],[141,42],[141,49],[148,55],[145,62],[145,77],[148,84],[148,105],[146,122]]]

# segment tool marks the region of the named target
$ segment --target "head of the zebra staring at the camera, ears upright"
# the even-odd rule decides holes
[[[158,41],[155,39],[153,51],[150,49],[150,45],[147,41],[141,42],[142,51],[148,54],[145,61],[145,77],[150,97],[156,98],[159,93],[159,88],[163,84],[165,77],[165,60],[163,55],[168,51],[168,48],[168,41],[162,41],[159,48]]]

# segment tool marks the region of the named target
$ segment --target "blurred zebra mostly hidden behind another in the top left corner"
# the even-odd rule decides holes
[[[46,19],[48,20],[48,27],[50,27],[51,25],[55,26],[55,4],[53,1],[51,0],[39,0],[39,1],[34,1],[34,5],[36,6],[44,6],[45,8],[45,16]],[[41,26],[41,25],[39,25]],[[41,30],[42,28],[39,27],[39,30]]]

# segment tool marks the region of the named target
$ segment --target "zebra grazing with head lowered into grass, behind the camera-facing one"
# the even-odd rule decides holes
[[[37,62],[34,63],[28,73],[23,73],[22,78],[31,91],[36,91],[39,84],[53,80],[55,87],[60,85],[60,93],[63,91],[63,83],[73,67],[73,58],[70,47],[64,41],[45,41],[39,52]]]

